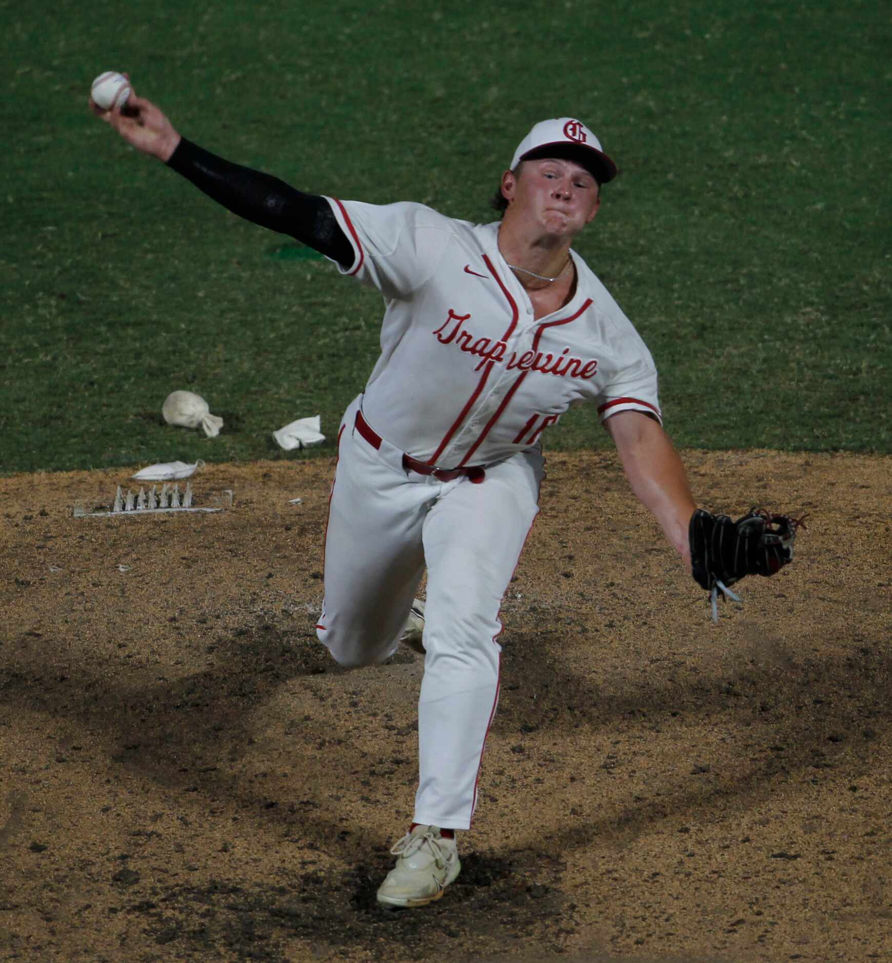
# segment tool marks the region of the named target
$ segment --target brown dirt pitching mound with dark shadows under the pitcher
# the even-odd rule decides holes
[[[685,460],[809,512],[797,560],[713,625],[616,459],[550,456],[462,873],[408,913],[422,663],[315,638],[333,464],[142,517],[90,515],[126,473],[0,479],[4,958],[892,959],[892,459]]]

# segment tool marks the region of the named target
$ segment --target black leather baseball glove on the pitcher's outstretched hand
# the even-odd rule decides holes
[[[688,527],[691,574],[710,593],[714,621],[719,621],[720,591],[740,602],[729,586],[745,575],[774,575],[793,560],[793,543],[802,521],[751,508],[735,522],[728,515],[696,509]]]

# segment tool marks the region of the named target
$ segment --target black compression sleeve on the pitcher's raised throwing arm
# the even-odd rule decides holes
[[[168,167],[240,218],[290,234],[345,268],[354,263],[354,248],[325,197],[303,194],[277,177],[232,164],[185,138]]]

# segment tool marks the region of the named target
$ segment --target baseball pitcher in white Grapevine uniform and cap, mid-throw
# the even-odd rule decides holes
[[[341,665],[424,653],[419,784],[384,906],[459,874],[499,693],[502,597],[538,512],[541,438],[590,402],[632,490],[698,584],[728,592],[792,559],[796,523],[697,509],[662,428],[641,337],[571,245],[617,175],[573,117],[537,123],[502,174],[500,220],[309,195],[181,137],[148,100],[93,111],[243,218],[290,235],[384,300],[380,357],[337,437],[320,640]],[[427,570],[427,597],[416,592]]]

